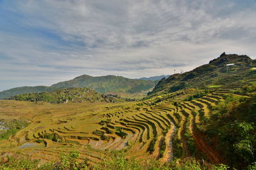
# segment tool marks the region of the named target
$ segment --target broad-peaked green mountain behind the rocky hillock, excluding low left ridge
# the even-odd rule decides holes
[[[88,87],[100,93],[106,92],[141,92],[156,85],[156,81],[133,80],[122,76],[88,76],[82,75],[73,80],[56,83],[51,87]]]

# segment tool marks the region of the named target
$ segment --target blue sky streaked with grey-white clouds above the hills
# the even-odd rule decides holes
[[[255,0],[0,0],[0,91],[256,58]]]

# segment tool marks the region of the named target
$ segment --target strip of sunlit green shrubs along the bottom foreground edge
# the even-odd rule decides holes
[[[140,162],[134,158],[125,159],[125,155],[123,152],[113,154],[111,160],[104,160],[103,162],[99,162],[99,164],[90,164],[88,163],[88,159],[84,159],[83,161],[79,160],[80,153],[77,150],[72,150],[69,153],[60,153],[59,159],[57,162],[51,163],[40,163],[40,160],[32,159],[32,158],[24,158],[19,153],[15,153],[12,156],[2,157],[0,160],[0,168],[1,169],[37,169],[37,170],[53,170],[53,169],[213,169],[213,170],[225,170],[227,166],[221,164],[219,166],[213,166],[211,164],[207,164],[206,162],[200,162],[193,158],[188,158],[186,160],[182,160],[179,164],[175,162],[170,163],[161,163],[157,162],[154,159],[148,159],[145,162]],[[19,158],[19,159],[17,159]],[[253,169],[255,165],[249,167],[249,169]]]

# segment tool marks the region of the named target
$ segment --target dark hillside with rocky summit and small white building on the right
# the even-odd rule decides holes
[[[227,64],[234,64],[227,66]],[[173,74],[160,80],[148,94],[175,92],[184,88],[225,87],[227,85],[245,85],[256,80],[256,61],[247,55],[222,53],[209,64],[196,67],[183,74]]]

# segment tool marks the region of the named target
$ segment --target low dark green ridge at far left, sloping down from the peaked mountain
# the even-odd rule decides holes
[[[0,99],[5,99],[17,94],[26,94],[26,93],[40,93],[40,92],[52,92],[58,90],[58,87],[46,87],[46,86],[35,86],[35,87],[16,87],[9,90],[4,90],[0,92]]]

